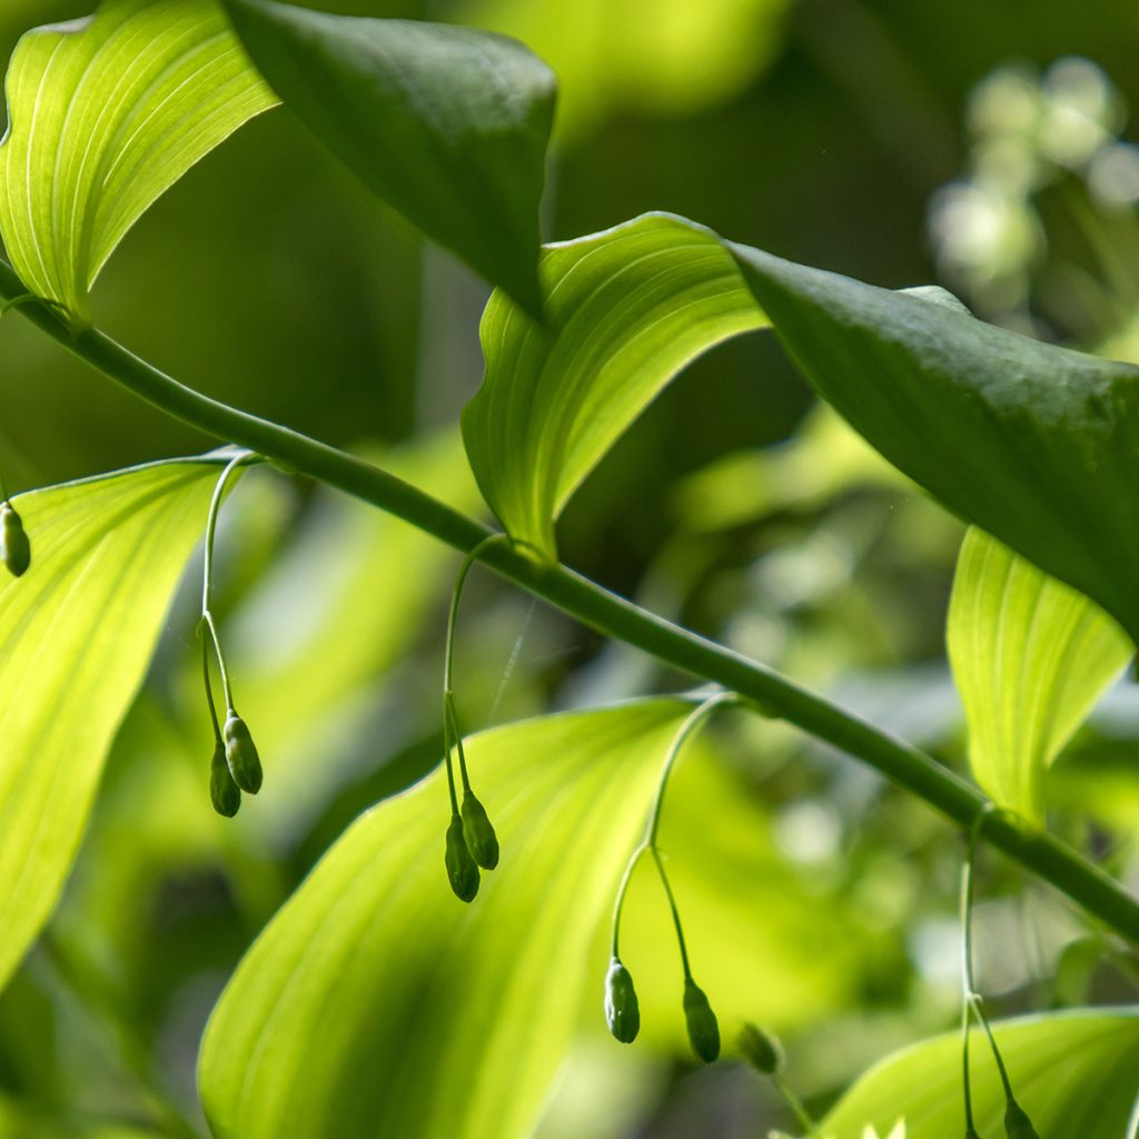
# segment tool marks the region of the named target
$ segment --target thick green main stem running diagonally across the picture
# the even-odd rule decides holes
[[[25,292],[11,267],[0,262],[0,298]],[[18,311],[128,391],[208,435],[238,443],[280,466],[370,502],[465,552],[492,533],[482,523],[378,467],[179,384],[95,329],[72,333],[48,305],[22,305]],[[977,788],[918,748],[762,664],[639,608],[565,566],[543,564],[514,543],[489,547],[482,560],[508,581],[597,632],[737,693],[768,714],[861,760],[960,827],[972,827],[989,803]],[[984,830],[990,845],[1139,944],[1139,901],[1098,867],[1051,835],[1005,816],[986,819]]]

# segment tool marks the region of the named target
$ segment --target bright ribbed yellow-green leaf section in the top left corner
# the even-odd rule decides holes
[[[7,90],[0,235],[24,284],[77,323],[147,207],[277,101],[216,0],[104,0],[28,32]]]

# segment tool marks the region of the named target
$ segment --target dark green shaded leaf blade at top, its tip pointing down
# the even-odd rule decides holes
[[[285,105],[376,195],[530,312],[550,69],[474,28],[226,0]]]

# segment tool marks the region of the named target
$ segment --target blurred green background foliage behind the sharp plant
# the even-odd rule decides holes
[[[988,319],[1139,355],[1139,151],[1125,141],[1139,16],[1124,0],[313,6],[468,22],[542,54],[562,80],[551,239],[672,210],[884,286],[939,280]],[[27,26],[88,7],[8,0],[2,54]],[[96,317],[183,382],[477,510],[456,424],[480,382],[484,300],[274,112],[144,218]],[[0,327],[0,407],[14,490],[210,445],[18,319]],[[959,767],[942,638],[960,534],[814,407],[760,335],[656,402],[575,499],[560,548]],[[0,1134],[125,1139],[192,1113],[197,1041],[245,947],[360,810],[437,761],[457,556],[259,470],[226,509],[219,557],[267,790],[232,823],[210,810],[191,568],[65,901],[0,998]],[[470,729],[687,682],[477,572],[457,675]],[[1132,880],[1137,727],[1124,685],[1051,788],[1062,833]],[[746,1016],[782,1033],[810,1101],[952,1023],[961,844],[925,808],[786,728],[730,715],[681,768],[663,841],[726,1031]],[[442,842],[424,853],[441,855]],[[980,977],[999,1011],[1134,998],[1136,961],[1055,898],[997,859],[982,880]],[[599,932],[542,1139],[788,1126],[745,1071],[691,1070],[650,885],[626,918],[644,1041],[622,1050],[604,1033]]]

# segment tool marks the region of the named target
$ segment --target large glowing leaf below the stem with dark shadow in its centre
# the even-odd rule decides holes
[[[528,1134],[689,708],[648,700],[473,737],[502,861],[470,907],[443,869],[442,772],[361,817],[214,1010],[199,1083],[218,1139]],[[596,1009],[600,1022],[600,986]]]

